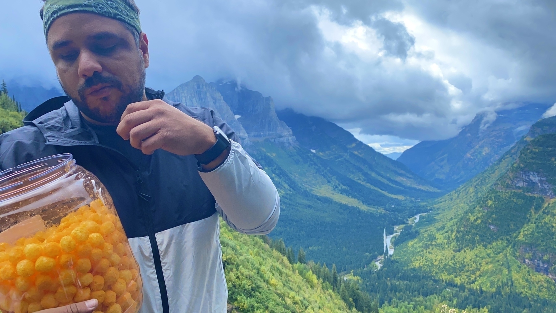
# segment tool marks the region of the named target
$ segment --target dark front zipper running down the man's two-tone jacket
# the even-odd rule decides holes
[[[151,196],[147,195],[145,188],[145,181],[141,175],[141,171],[135,171],[138,196],[140,198],[139,205],[143,210],[143,216],[145,217],[145,225],[147,226],[148,240],[151,242],[152,249],[152,259],[155,263],[156,279],[158,280],[158,287],[160,288],[160,297],[162,300],[162,312],[170,313],[170,304],[168,304],[168,292],[166,290],[166,282],[164,281],[164,273],[162,271],[162,262],[160,260],[160,250],[158,250],[158,244],[156,242],[155,236],[155,226],[152,222],[152,215],[150,212],[150,200]]]

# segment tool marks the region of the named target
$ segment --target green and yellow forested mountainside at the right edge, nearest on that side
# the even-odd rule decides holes
[[[493,294],[489,311],[556,311],[556,117],[434,205],[394,259],[432,280]],[[479,301],[480,302],[480,301]]]

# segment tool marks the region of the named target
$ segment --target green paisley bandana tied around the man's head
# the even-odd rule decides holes
[[[117,19],[141,33],[139,15],[122,0],[46,0],[42,18],[44,36],[46,37],[52,22],[58,17],[74,12],[88,12]]]

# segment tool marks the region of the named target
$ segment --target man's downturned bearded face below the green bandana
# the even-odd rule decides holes
[[[59,17],[48,31],[48,51],[63,90],[91,120],[116,123],[127,105],[144,100],[147,38],[112,18],[91,13]]]

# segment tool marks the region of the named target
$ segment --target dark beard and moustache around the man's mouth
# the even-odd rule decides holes
[[[116,76],[113,76],[112,74],[101,74],[95,72],[91,77],[88,77],[81,86],[77,88],[78,98],[72,97],[71,94],[67,92],[66,88],[64,88],[61,81],[60,85],[62,86],[63,91],[66,92],[66,95],[68,95],[68,97],[81,111],[81,113],[83,113],[83,115],[87,116],[88,118],[91,118],[91,120],[101,123],[120,122],[120,118],[122,117],[122,114],[126,110],[128,105],[143,100],[143,95],[145,93],[146,73],[144,66],[141,66],[140,68],[142,69],[140,79],[135,85],[128,85],[125,86],[125,88],[122,81],[119,80]],[[113,109],[110,111],[101,110],[101,108],[99,107],[92,107],[91,105],[89,105],[89,103],[87,103],[86,100],[87,97],[85,96],[85,91],[88,88],[101,83],[108,83],[122,93],[122,96],[117,100],[117,102],[113,105]]]

